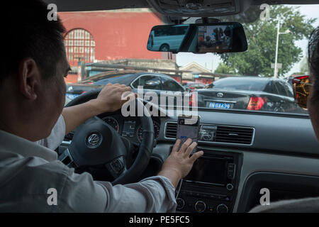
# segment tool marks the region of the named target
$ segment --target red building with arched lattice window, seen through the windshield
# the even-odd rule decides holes
[[[151,28],[161,24],[159,14],[150,9],[58,14],[67,29],[65,49],[72,67],[77,67],[79,61],[134,58],[175,61],[171,52],[151,52],[146,48]],[[66,80],[76,82],[77,75],[69,74]]]

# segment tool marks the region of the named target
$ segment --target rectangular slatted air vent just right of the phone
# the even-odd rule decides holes
[[[251,144],[253,128],[217,126],[215,142]]]

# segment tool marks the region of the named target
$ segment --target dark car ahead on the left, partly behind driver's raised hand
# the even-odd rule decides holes
[[[97,78],[97,79],[96,79]],[[92,80],[93,79],[93,80]],[[96,81],[94,81],[96,80]],[[142,86],[143,93],[155,92],[185,92],[184,87],[175,79],[165,74],[152,72],[138,72],[133,74],[108,74],[101,73],[81,83],[67,84],[67,96],[74,99],[76,96],[92,89],[101,89],[106,84],[125,84],[138,92],[138,86]],[[169,101],[167,101],[169,103]]]

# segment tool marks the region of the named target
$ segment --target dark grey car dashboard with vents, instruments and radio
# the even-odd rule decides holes
[[[319,145],[307,116],[218,110],[198,111],[198,115],[198,150],[204,151],[204,159],[181,182],[177,212],[246,212],[258,205],[261,188],[270,190],[271,202],[319,196],[315,183],[319,182]],[[138,118],[99,117],[120,135],[140,143]],[[176,138],[177,117],[152,120],[157,143],[140,179],[157,175]],[[232,140],[224,140],[220,133]]]

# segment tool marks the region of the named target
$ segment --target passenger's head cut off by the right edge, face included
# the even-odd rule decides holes
[[[308,65],[310,71],[310,89],[308,98],[308,112],[313,129],[319,140],[319,27],[310,35],[308,43]]]

